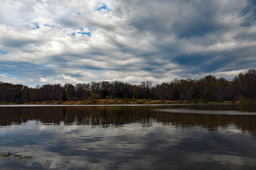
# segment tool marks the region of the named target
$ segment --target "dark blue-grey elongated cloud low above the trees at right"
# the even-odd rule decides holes
[[[189,73],[215,72],[221,69],[228,72],[232,69],[253,68],[255,61],[255,47],[247,47],[225,52],[196,53],[191,55],[179,55],[173,62],[181,67],[189,69]],[[196,66],[196,67],[195,67]],[[187,71],[183,72],[186,74]]]

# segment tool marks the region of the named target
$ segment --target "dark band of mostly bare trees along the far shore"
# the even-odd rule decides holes
[[[122,81],[90,84],[45,84],[28,87],[0,81],[0,102],[83,101],[111,98],[173,101],[256,100],[256,71],[238,74],[232,81],[208,75],[202,79],[174,79],[152,86],[151,81],[132,85]]]

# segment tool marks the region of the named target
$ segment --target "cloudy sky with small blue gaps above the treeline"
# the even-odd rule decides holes
[[[232,80],[256,65],[254,0],[1,0],[0,81]]]

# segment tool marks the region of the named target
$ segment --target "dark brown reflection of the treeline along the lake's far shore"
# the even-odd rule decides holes
[[[182,113],[182,114],[181,114]],[[19,125],[28,120],[49,125],[90,125],[102,128],[141,123],[150,127],[153,120],[176,127],[201,126],[208,130],[226,127],[256,134],[255,105],[174,105],[174,106],[92,106],[92,107],[0,107],[0,125]]]

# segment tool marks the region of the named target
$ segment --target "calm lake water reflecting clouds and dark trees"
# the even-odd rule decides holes
[[[256,105],[0,106],[8,149],[0,169],[256,169]]]

